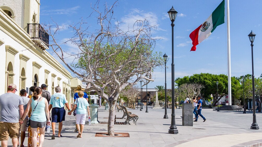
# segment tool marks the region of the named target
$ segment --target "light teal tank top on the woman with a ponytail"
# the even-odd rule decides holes
[[[32,103],[31,103],[32,111],[34,110],[36,104],[37,104],[37,100],[34,100],[32,98]],[[30,120],[37,121],[37,122],[47,121],[45,107],[46,107],[45,99],[44,97],[41,97],[41,101],[39,101],[39,103],[37,104],[34,113],[30,117]]]

